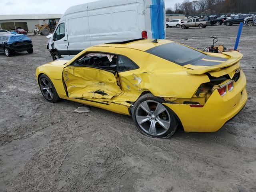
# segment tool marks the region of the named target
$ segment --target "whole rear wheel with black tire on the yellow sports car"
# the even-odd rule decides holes
[[[174,112],[168,108],[165,105],[162,105],[162,103],[165,103],[165,101],[161,98],[155,97],[153,94],[148,93],[140,98],[135,102],[133,110],[132,110],[132,118],[138,128],[138,130],[149,137],[154,137],[154,138],[169,138],[171,137],[177,130],[178,127],[178,120],[174,114]],[[152,115],[148,114],[144,109],[142,109],[141,106],[144,106],[146,104],[150,112],[152,112]],[[156,106],[159,106],[164,109],[163,112],[159,114],[154,114],[156,112]],[[160,110],[162,111],[162,110]],[[148,114],[148,115],[147,115]],[[148,120],[142,120],[141,118],[146,117]],[[138,120],[142,120],[140,124],[138,123]],[[159,122],[164,122],[164,125],[166,128],[160,125]],[[166,124],[168,122],[168,124]],[[151,125],[154,124],[154,132],[156,134],[153,134],[151,132]],[[148,131],[146,130],[148,128]]]

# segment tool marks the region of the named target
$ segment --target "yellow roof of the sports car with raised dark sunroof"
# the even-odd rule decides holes
[[[128,40],[124,42],[112,42],[107,44],[100,44],[100,45],[95,45],[93,47],[130,48],[130,49],[136,49],[140,51],[146,51],[156,46],[173,42],[173,41],[164,40],[164,39],[157,39],[158,43],[154,43],[152,41],[154,41],[154,39],[135,39],[135,40]]]

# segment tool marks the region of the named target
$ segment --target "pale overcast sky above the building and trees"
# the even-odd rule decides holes
[[[70,6],[93,1],[96,0],[0,0],[0,15],[63,14]],[[183,0],[164,1],[166,8],[183,2]]]

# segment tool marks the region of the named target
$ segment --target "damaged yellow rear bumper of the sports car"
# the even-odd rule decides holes
[[[165,105],[176,113],[186,132],[216,132],[242,110],[246,101],[246,78],[241,71],[231,92],[220,96],[215,90],[202,108],[192,108],[186,104]]]

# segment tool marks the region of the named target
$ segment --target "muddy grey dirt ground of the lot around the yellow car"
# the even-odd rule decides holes
[[[237,30],[168,28],[167,38],[203,50],[214,36],[231,48]],[[52,60],[47,39],[30,38],[33,54],[0,54],[0,192],[256,192],[256,26],[244,27],[239,46],[246,107],[218,132],[170,139],[143,136],[129,116],[47,102],[35,78]]]

